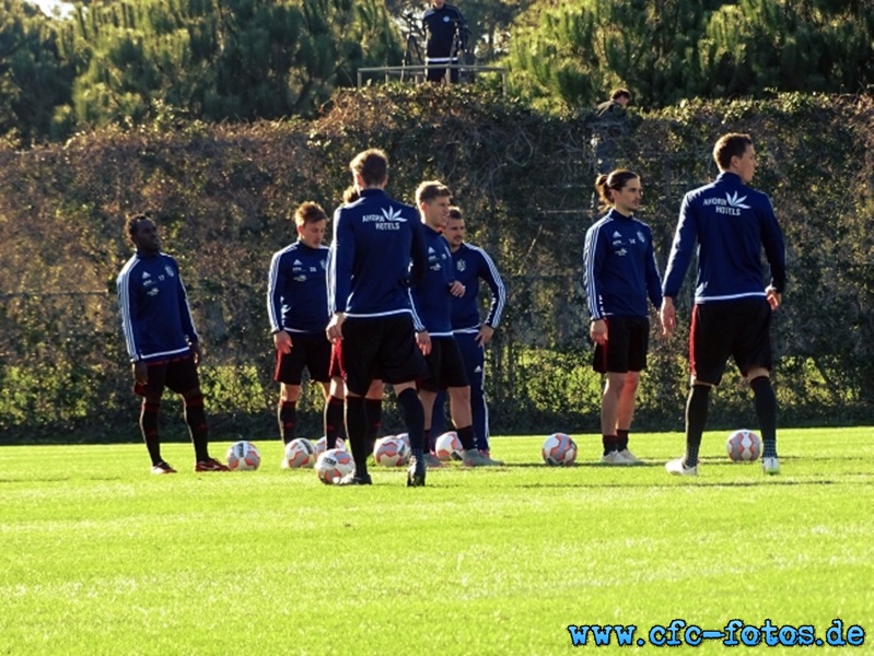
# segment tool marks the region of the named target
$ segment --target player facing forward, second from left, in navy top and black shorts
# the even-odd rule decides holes
[[[326,406],[330,382],[330,342],[325,337],[328,247],[322,244],[328,218],[318,203],[303,202],[292,220],[298,239],[273,254],[267,279],[267,315],[277,353],[273,379],[279,382],[277,415],[283,444],[294,440],[304,367],[310,378],[324,387]],[[284,457],[282,467],[288,467]]]

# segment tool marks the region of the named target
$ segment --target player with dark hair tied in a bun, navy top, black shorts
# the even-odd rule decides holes
[[[655,266],[650,226],[633,216],[640,209],[640,177],[619,168],[599,175],[595,190],[607,213],[585,233],[583,288],[595,342],[592,366],[606,375],[601,399],[605,465],[640,460],[628,449],[640,372],[646,368],[650,318],[646,298],[659,308],[662,279]]]

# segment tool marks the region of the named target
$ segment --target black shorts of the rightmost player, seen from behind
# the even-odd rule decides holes
[[[702,303],[692,309],[689,364],[700,383],[719,385],[731,355],[746,376],[771,370],[771,306],[765,297]]]

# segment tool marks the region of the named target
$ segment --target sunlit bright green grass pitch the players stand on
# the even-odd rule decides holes
[[[165,477],[142,445],[2,447],[0,654],[611,653],[568,625],[634,624],[637,643],[674,619],[874,632],[874,430],[780,435],[777,477],[730,462],[722,433],[698,479],[664,471],[678,434],[633,435],[651,465],[622,469],[593,464],[595,435],[572,468],[506,437],[506,467],[423,489],[377,468],[325,487],[280,470],[272,440],[260,470],[221,475],[165,445]]]

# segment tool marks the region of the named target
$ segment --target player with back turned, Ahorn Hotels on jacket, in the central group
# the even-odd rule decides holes
[[[377,149],[349,164],[360,198],[334,213],[327,336],[342,340],[346,372],[346,432],[356,470],[341,485],[370,485],[364,395],[382,375],[392,384],[410,437],[407,485],[424,485],[424,413],[416,380],[428,375],[424,327],[409,302],[409,286],[427,266],[416,209],[385,192],[388,157]],[[412,265],[412,266],[410,266]],[[417,335],[417,330],[419,333]]]

